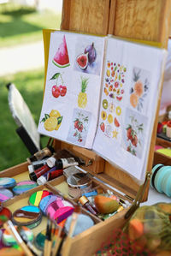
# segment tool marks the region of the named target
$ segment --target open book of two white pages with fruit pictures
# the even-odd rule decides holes
[[[92,149],[144,180],[166,51],[80,33],[50,33],[38,132]]]

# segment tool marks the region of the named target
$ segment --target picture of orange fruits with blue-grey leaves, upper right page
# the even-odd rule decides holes
[[[145,112],[150,91],[150,71],[133,68],[133,80],[130,88],[130,104],[133,109]]]

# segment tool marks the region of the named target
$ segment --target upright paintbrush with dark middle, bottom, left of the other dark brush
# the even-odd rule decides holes
[[[50,221],[50,218],[48,216],[47,227],[46,227],[46,239],[44,242],[44,256],[50,256],[50,253],[51,253],[51,246],[52,246],[51,229],[52,229],[52,222]]]

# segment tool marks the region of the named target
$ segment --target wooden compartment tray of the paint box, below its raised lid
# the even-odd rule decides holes
[[[61,144],[60,141],[57,141]],[[68,149],[68,145],[62,144],[61,148]],[[79,150],[79,152],[77,152]],[[57,151],[59,151],[59,145],[57,147]],[[105,163],[102,158],[97,157],[94,153],[84,150],[80,152],[80,148],[76,147],[73,149],[69,148],[69,151],[74,153],[74,155],[79,156],[85,160],[85,163],[89,163],[91,161],[91,168],[89,170],[88,167],[85,167],[84,170],[88,170],[91,174],[91,182],[92,187],[94,188],[103,188],[103,191],[107,191],[109,189],[111,192],[118,195],[121,199],[129,201],[130,205],[133,205],[133,199],[136,195],[136,189],[139,189],[136,184],[132,184],[132,187],[125,186],[122,182],[117,181],[116,178],[111,178],[108,174],[101,173],[97,174],[93,172],[93,170],[97,171],[97,166],[100,170],[104,169]],[[28,163],[23,163],[16,165],[12,168],[7,170],[3,170],[0,174],[0,177],[13,177],[15,178],[16,182],[26,181],[29,180],[29,174],[27,169]],[[109,167],[108,169],[112,168]],[[97,177],[98,180],[95,178]],[[127,176],[124,177],[126,179]],[[103,182],[107,182],[108,184],[113,185],[115,188],[109,188],[107,184],[105,185]],[[129,179],[129,177],[128,177]],[[133,182],[130,180],[130,182]],[[114,185],[115,184],[115,185]],[[137,186],[137,187],[136,187]],[[21,206],[28,205],[28,199],[32,195],[39,190],[49,190],[52,193],[61,195],[64,199],[70,201],[74,206],[77,205],[76,199],[70,199],[68,196],[68,185],[64,176],[60,176],[50,182],[46,182],[44,185],[39,185],[36,188],[32,188],[25,193],[20,195],[15,195],[12,199],[3,203],[4,207],[8,207],[9,210],[13,213]],[[119,192],[121,189],[121,193]],[[128,191],[128,192],[127,192]],[[138,202],[139,203],[139,202]],[[20,205],[20,206],[19,206]],[[109,241],[109,238],[113,235],[115,229],[121,229],[124,224],[126,223],[127,219],[125,219],[125,214],[127,213],[127,209],[117,213],[114,217],[109,217],[107,220],[102,221],[100,218],[91,214],[85,210],[85,208],[81,207],[81,212],[91,217],[94,221],[94,226],[90,229],[85,230],[84,232],[80,233],[80,235],[74,236],[74,238],[69,241],[67,247],[64,247],[67,251],[65,251],[62,255],[92,255],[96,253],[97,249],[101,247],[103,242]],[[43,217],[42,222],[38,225],[38,227],[32,229],[34,236],[38,235],[38,233],[46,228],[47,218]]]

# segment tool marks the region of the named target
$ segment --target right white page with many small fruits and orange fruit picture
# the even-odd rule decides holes
[[[109,38],[93,150],[144,180],[166,51]]]

